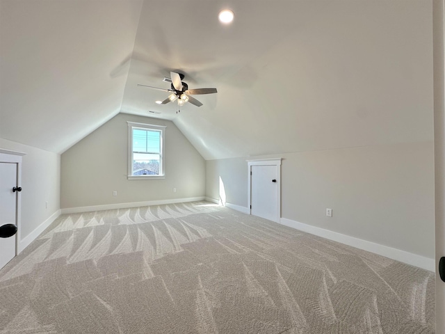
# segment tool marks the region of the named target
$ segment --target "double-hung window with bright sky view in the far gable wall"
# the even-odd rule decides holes
[[[164,178],[163,159],[165,127],[143,123],[128,123],[128,178]]]

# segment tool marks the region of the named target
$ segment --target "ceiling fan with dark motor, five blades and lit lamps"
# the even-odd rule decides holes
[[[152,87],[152,86],[141,85],[141,84],[138,84],[138,86],[154,88],[157,90],[162,90],[164,92],[171,93],[160,104],[168,104],[169,102],[174,102],[175,100],[177,100],[176,113],[179,113],[181,111],[180,106],[183,106],[184,104],[186,104],[186,102],[190,102],[191,104],[193,104],[195,106],[202,106],[202,103],[200,101],[196,100],[195,97],[192,97],[190,95],[218,93],[216,88],[188,89],[188,85],[185,82],[183,82],[182,79],[184,79],[184,74],[170,72],[170,78],[164,78],[164,81],[168,81],[168,82],[172,83],[171,89],[164,89],[164,88]]]

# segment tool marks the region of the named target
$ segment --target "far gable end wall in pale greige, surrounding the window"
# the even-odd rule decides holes
[[[127,121],[167,127],[165,179],[127,180]],[[172,122],[120,113],[62,154],[60,201],[72,208],[196,198],[204,182],[204,159]]]

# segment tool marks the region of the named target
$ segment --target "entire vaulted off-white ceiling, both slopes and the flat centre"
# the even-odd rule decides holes
[[[63,152],[124,112],[204,159],[432,140],[428,1],[0,1],[2,138]],[[155,104],[170,70],[218,94]]]

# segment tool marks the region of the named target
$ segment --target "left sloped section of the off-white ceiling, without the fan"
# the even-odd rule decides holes
[[[61,153],[120,111],[142,0],[0,6],[1,138]]]

